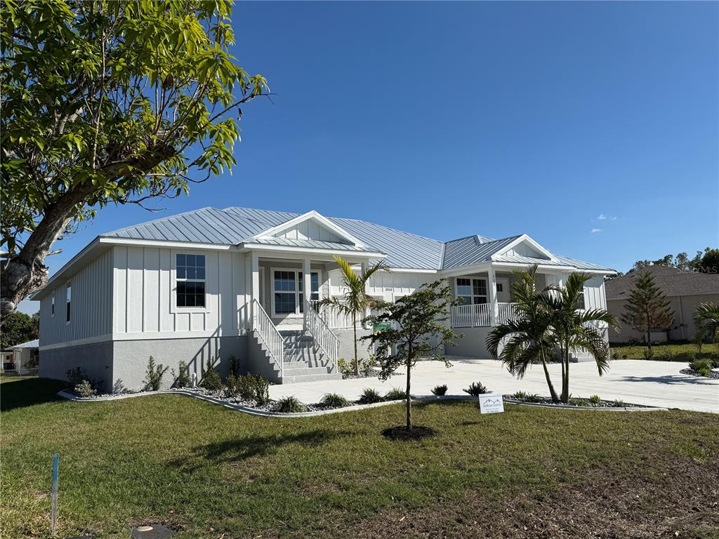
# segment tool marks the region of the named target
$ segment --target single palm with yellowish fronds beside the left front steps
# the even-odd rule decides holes
[[[352,331],[354,331],[354,374],[359,375],[359,359],[357,359],[357,314],[367,312],[368,308],[372,305],[379,303],[375,298],[367,294],[367,281],[370,280],[372,275],[380,270],[389,271],[383,260],[375,264],[371,264],[365,271],[359,275],[352,270],[352,265],[346,260],[340,257],[334,257],[335,262],[339,264],[339,269],[342,270],[342,282],[346,292],[344,297],[339,298],[324,298],[321,300],[319,305],[327,305],[329,308],[339,310],[340,313],[345,313],[352,316]]]

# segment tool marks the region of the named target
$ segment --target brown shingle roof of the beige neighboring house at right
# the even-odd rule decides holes
[[[634,270],[622,277],[605,283],[608,300],[628,298],[634,287],[637,275],[647,271],[664,295],[700,295],[719,294],[719,275],[699,272],[686,272],[675,267],[652,265],[644,270]]]

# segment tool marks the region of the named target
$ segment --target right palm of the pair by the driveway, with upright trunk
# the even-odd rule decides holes
[[[597,323],[605,323],[613,329],[618,322],[607,310],[580,310],[580,298],[584,285],[591,276],[585,272],[573,272],[567,277],[567,286],[552,294],[546,303],[549,310],[550,338],[559,346],[562,361],[562,402],[569,402],[569,352],[585,349],[597,363],[601,376],[609,368],[609,345]]]

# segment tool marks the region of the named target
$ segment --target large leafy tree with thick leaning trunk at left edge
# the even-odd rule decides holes
[[[1,321],[55,241],[108,204],[175,197],[234,165],[267,93],[230,54],[227,0],[0,3]]]

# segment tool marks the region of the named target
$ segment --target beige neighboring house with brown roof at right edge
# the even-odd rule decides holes
[[[694,338],[696,329],[692,316],[700,303],[713,301],[719,303],[719,275],[711,273],[687,272],[674,267],[649,266],[654,282],[664,292],[674,310],[674,322],[669,331],[651,333],[654,342],[687,341]],[[618,319],[624,313],[624,305],[634,287],[638,272],[629,272],[622,277],[605,283],[607,308]],[[644,336],[626,323],[621,323],[620,333],[609,332],[610,343],[644,341]]]

